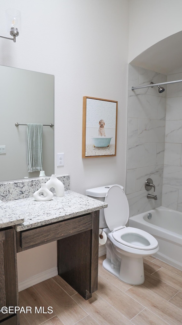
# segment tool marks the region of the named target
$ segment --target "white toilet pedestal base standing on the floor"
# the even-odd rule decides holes
[[[142,257],[131,258],[123,255],[120,267],[115,266],[111,260],[106,258],[103,261],[103,268],[128,284],[139,285],[145,281]]]

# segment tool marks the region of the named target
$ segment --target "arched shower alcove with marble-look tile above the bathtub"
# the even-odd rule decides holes
[[[130,216],[163,205],[182,212],[182,31],[152,45],[129,63],[126,194]],[[158,200],[147,199],[152,178]]]

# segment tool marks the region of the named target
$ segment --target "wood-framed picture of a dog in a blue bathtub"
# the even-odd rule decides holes
[[[83,97],[82,158],[116,156],[117,101]]]

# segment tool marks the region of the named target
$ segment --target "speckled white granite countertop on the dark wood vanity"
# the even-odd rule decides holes
[[[18,222],[14,224],[17,224],[16,230],[21,231],[66,220],[106,207],[107,203],[70,190],[65,191],[63,197],[54,196],[50,201],[35,201],[33,197],[8,201],[0,203],[0,228],[7,227],[1,226],[7,217],[9,220],[18,217],[16,219]]]

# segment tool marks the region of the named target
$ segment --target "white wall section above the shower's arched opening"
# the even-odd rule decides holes
[[[181,0],[129,0],[128,62],[155,43],[181,31],[181,12]]]

